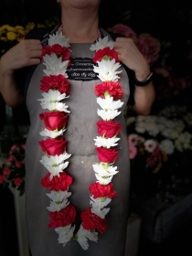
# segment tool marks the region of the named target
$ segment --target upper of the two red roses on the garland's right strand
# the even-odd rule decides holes
[[[112,138],[120,133],[122,125],[114,121],[99,121],[97,123],[98,133],[100,136],[104,135],[106,138]]]

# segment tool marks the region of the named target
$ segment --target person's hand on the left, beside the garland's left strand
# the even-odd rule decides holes
[[[16,69],[37,65],[41,61],[41,43],[36,39],[26,39],[10,48],[1,59],[6,73],[14,73]]]

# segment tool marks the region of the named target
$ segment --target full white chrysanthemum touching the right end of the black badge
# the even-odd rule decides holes
[[[120,63],[115,63],[115,59],[105,60],[101,59],[101,61],[97,61],[98,67],[93,66],[94,72],[98,73],[98,77],[101,81],[117,81],[120,77],[117,74],[121,73],[122,70],[116,71],[121,67]]]

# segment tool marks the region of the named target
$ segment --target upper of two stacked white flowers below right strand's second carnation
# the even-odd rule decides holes
[[[123,101],[113,101],[113,97],[108,95],[106,98],[102,99],[101,97],[97,98],[97,103],[105,111],[108,110],[118,110],[123,106]]]

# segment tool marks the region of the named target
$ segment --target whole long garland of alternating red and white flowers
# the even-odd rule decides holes
[[[98,115],[101,121],[97,123],[98,133],[94,141],[96,152],[100,163],[92,165],[97,178],[94,184],[89,187],[91,192],[91,208],[80,213],[81,225],[77,233],[74,234],[76,219],[76,209],[69,204],[69,186],[72,177],[68,176],[65,169],[69,165],[66,161],[70,155],[67,153],[67,141],[63,138],[63,133],[68,123],[68,106],[63,102],[69,97],[69,81],[67,68],[70,64],[69,39],[62,33],[49,36],[48,46],[43,48],[42,58],[44,76],[41,80],[41,90],[43,99],[40,99],[43,112],[39,118],[44,122],[45,128],[40,132],[42,136],[48,137],[39,142],[41,150],[45,153],[40,163],[48,169],[48,174],[41,180],[41,185],[49,189],[47,196],[51,199],[49,210],[49,228],[54,228],[59,234],[59,243],[63,246],[69,240],[77,240],[83,250],[89,248],[88,239],[97,241],[98,233],[103,233],[107,228],[105,215],[110,208],[106,206],[111,202],[112,197],[117,196],[112,187],[112,176],[118,173],[117,167],[113,163],[118,158],[118,150],[115,148],[120,140],[117,134],[122,126],[120,123],[112,121],[121,112],[123,102],[117,100],[122,97],[123,91],[118,82],[117,71],[120,68],[118,55],[113,48],[113,42],[108,41],[108,37],[99,38],[91,46],[92,51],[96,51],[93,58],[94,71],[98,73],[101,84],[95,86],[97,102],[101,109]]]

